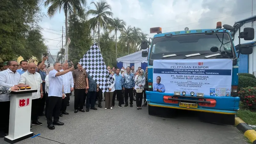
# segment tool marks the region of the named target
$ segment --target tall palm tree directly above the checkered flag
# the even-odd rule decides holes
[[[89,20],[90,29],[95,31],[98,28],[98,44],[100,44],[100,28],[103,28],[104,31],[108,29],[108,25],[111,23],[111,18],[108,16],[113,16],[113,12],[107,11],[108,9],[111,11],[111,6],[107,4],[104,0],[100,2],[91,2],[94,4],[96,10],[87,11],[87,15],[92,14],[93,18]]]

